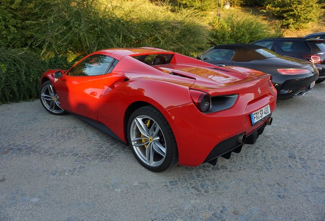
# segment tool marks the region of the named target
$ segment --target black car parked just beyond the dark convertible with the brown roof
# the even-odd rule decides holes
[[[325,80],[325,40],[306,38],[267,38],[253,42],[278,54],[308,60],[319,71],[317,83]]]

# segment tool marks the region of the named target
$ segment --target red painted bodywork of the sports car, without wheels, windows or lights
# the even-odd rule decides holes
[[[171,62],[152,67],[131,57],[164,53],[174,54]],[[105,124],[124,142],[127,142],[127,122],[124,122],[127,108],[137,101],[155,106],[174,132],[180,165],[200,165],[219,142],[242,132],[248,135],[265,123],[266,119],[251,126],[250,113],[267,104],[272,112],[276,107],[276,90],[270,84],[269,75],[262,72],[221,68],[153,48],[107,49],[92,54],[104,54],[119,62],[110,74],[100,76],[64,75],[55,79],[53,73],[57,70],[49,70],[41,82],[43,78],[51,80],[66,111]],[[171,72],[189,78],[170,75]],[[125,79],[129,80],[125,82]],[[233,107],[203,114],[193,104],[190,88],[212,96],[239,96]]]

